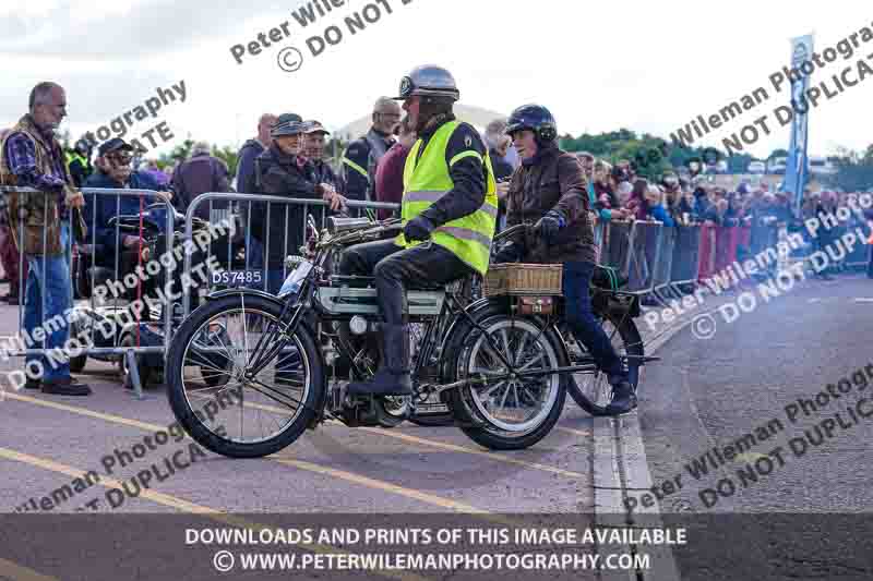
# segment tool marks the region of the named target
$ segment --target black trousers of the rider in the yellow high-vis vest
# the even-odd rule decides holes
[[[406,323],[407,289],[439,289],[473,273],[461,258],[432,242],[411,249],[392,240],[358,244],[347,249],[339,263],[340,275],[375,277],[379,307],[388,325]]]

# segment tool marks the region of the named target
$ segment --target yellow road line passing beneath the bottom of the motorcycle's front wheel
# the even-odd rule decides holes
[[[46,400],[41,400],[41,399],[37,399],[37,398],[31,398],[28,396],[15,395],[15,399],[19,399],[21,401],[25,401],[25,402],[28,402],[28,403],[35,403],[37,406],[47,406],[49,408],[61,409],[61,410],[64,410],[64,411],[69,411],[71,413],[86,415],[88,417],[96,417],[96,419],[103,420],[105,422],[110,422],[110,423],[117,423],[117,424],[127,425],[127,426],[139,427],[139,428],[142,428],[142,429],[146,429],[148,432],[158,432],[158,431],[162,431],[162,429],[166,429],[166,426],[159,426],[157,424],[148,424],[148,423],[145,423],[145,422],[137,422],[137,421],[134,421],[134,420],[129,420],[127,417],[121,417],[119,415],[112,415],[112,414],[108,414],[108,413],[92,412],[91,410],[79,408],[79,407],[75,407],[75,406],[67,406],[67,404],[56,403],[53,401],[46,401]],[[2,448],[0,448],[0,449],[2,449]],[[17,452],[14,452],[14,453],[17,453]],[[0,455],[0,456],[2,456],[2,455]],[[354,483],[354,484],[366,486],[368,488],[372,488],[372,489],[376,489],[376,491],[381,491],[381,492],[388,492],[388,493],[396,494],[396,495],[399,495],[399,496],[405,496],[407,498],[415,498],[415,499],[420,500],[422,503],[426,503],[426,504],[429,504],[429,505],[433,505],[433,506],[438,506],[440,508],[452,508],[453,510],[459,510],[461,512],[487,513],[487,511],[481,511],[481,510],[476,509],[476,508],[474,508],[474,507],[471,507],[469,505],[463,505],[461,503],[455,503],[454,500],[450,500],[449,498],[442,498],[442,497],[439,497],[439,496],[435,496],[435,495],[430,495],[430,494],[427,494],[427,493],[422,493],[420,491],[416,491],[416,489],[412,489],[412,488],[407,488],[405,486],[391,484],[388,482],[379,481],[379,480],[371,479],[371,477],[368,477],[368,476],[352,474],[351,472],[346,472],[346,471],[343,471],[343,470],[323,468],[323,467],[320,467],[318,464],[313,464],[311,462],[306,462],[306,461],[302,461],[302,460],[278,459],[278,458],[271,458],[271,457],[267,457],[266,459],[267,460],[272,460],[274,462],[279,462],[279,463],[283,463],[283,464],[286,464],[286,465],[292,465],[292,467],[295,467],[295,468],[297,468],[299,470],[306,471],[306,472],[313,472],[313,473],[321,474],[321,475],[325,475],[326,474],[326,475],[330,475],[330,476],[333,476],[333,477],[336,477],[336,479],[344,480],[346,482],[350,482],[350,483]],[[57,465],[61,467],[61,464],[57,464]],[[82,475],[82,473],[83,472],[71,473],[70,475],[73,476],[73,477],[79,477],[79,476]],[[117,484],[117,487],[120,488],[121,485]],[[145,495],[146,492],[150,492],[150,491],[144,491],[142,496],[146,496]],[[154,494],[157,494],[157,493],[154,493]],[[454,507],[456,507],[456,508],[454,508]]]

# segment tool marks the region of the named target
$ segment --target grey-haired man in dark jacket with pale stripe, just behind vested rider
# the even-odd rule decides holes
[[[396,142],[394,130],[400,122],[400,107],[387,97],[380,97],[373,107],[373,126],[360,140],[354,141],[343,157],[346,196],[369,201],[375,187],[375,168],[382,156]]]

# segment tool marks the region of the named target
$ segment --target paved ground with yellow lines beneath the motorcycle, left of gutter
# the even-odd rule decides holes
[[[0,328],[4,329],[0,335],[12,335],[16,318],[17,308],[0,306]],[[0,372],[20,365],[21,360],[2,362]],[[64,398],[14,391],[7,385],[0,402],[0,513],[25,506],[41,515],[83,508],[97,515],[201,512],[216,515],[218,523],[227,522],[220,517],[224,513],[247,513],[247,522],[255,523],[271,522],[277,513],[342,515],[346,524],[379,515],[412,519],[415,524],[417,518],[439,513],[465,516],[467,525],[481,528],[521,524],[517,519],[524,515],[565,515],[578,529],[594,525],[591,420],[570,398],[559,426],[523,451],[487,450],[454,427],[405,424],[390,431],[351,429],[334,423],[307,432],[270,458],[232,460],[198,453],[190,449],[189,438],[172,436],[168,426],[175,417],[163,386],[153,386],[145,400],[136,400],[120,386],[111,365],[94,361],[88,361],[79,377],[92,386],[93,395]],[[170,437],[158,445],[162,432]],[[186,467],[177,467],[168,475],[167,461],[172,458]],[[158,480],[156,470],[165,477]],[[99,482],[76,489],[75,480],[88,471],[96,473]],[[150,471],[154,477],[145,488],[137,474]],[[52,500],[53,493],[64,485],[74,494]],[[10,536],[4,540],[4,534],[9,535],[9,530],[0,531],[0,546],[5,544],[8,549]],[[37,544],[44,546],[45,537]],[[179,543],[174,546],[178,550]],[[0,553],[0,578],[15,579],[8,567],[22,566],[27,578],[37,579],[33,574],[38,573],[73,579],[69,569],[51,565],[63,560],[62,555],[51,553],[53,548],[58,547],[49,543],[49,553],[41,556]],[[547,550],[546,546],[535,547],[535,552]],[[141,559],[144,555],[148,553],[140,555]],[[208,573],[214,573],[207,558],[195,564],[196,570],[187,578],[208,579]],[[106,578],[94,570],[81,574],[82,579]],[[594,578],[589,571],[558,574],[562,576]],[[507,573],[506,578],[529,577]]]

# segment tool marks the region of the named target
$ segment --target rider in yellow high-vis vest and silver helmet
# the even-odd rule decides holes
[[[452,74],[435,65],[400,82],[397,100],[419,136],[404,168],[403,233],[351,246],[339,265],[344,275],[375,277],[383,320],[382,365],[371,382],[350,384],[350,394],[411,395],[406,290],[488,270],[497,184],[481,136],[452,112],[459,96]]]

